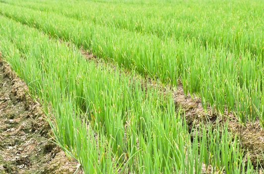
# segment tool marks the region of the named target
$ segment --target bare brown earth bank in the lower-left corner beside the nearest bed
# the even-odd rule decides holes
[[[25,91],[25,83],[0,59],[0,174],[73,174],[76,162],[49,141],[40,104]]]

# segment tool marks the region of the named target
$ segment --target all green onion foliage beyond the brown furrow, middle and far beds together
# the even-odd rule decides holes
[[[146,8],[77,1],[67,3],[72,6],[68,10],[62,1],[29,0],[2,3],[0,12],[141,75],[173,85],[180,79],[185,93],[200,95],[205,108],[233,111],[243,123],[259,117],[263,126],[264,39],[257,2],[165,3],[163,8],[154,3]]]

